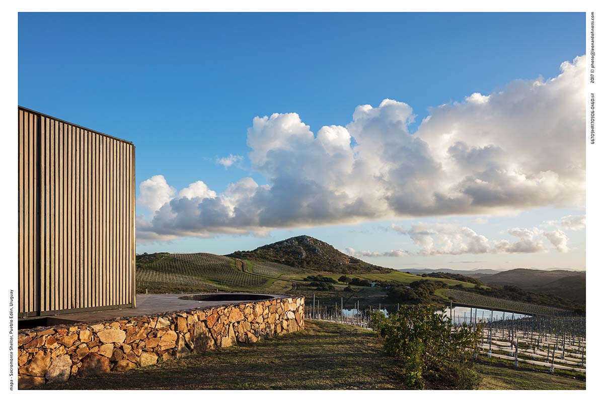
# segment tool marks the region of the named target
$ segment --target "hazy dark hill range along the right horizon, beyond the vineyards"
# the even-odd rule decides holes
[[[567,269],[516,268],[508,271],[495,269],[399,269],[410,274],[422,275],[447,272],[477,278],[485,284],[516,286],[528,292],[554,295],[585,304],[585,271]]]

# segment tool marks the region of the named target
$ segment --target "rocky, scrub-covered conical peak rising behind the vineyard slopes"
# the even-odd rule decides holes
[[[235,251],[228,257],[263,260],[303,268],[342,274],[354,272],[390,272],[393,269],[373,265],[347,256],[332,245],[310,236],[290,237],[252,251]]]

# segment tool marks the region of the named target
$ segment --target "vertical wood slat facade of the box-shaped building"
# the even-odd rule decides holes
[[[135,307],[135,148],[26,108],[19,317]]]

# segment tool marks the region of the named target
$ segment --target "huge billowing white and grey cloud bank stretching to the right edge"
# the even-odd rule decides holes
[[[206,188],[200,196],[181,190],[175,197],[154,176],[141,183],[139,198],[155,215],[137,233],[209,236],[580,205],[584,67],[585,57],[577,57],[551,80],[513,81],[500,92],[432,108],[414,134],[408,131],[412,108],[391,99],[360,105],[345,127],[322,127],[316,136],[297,113],[256,117],[248,129],[248,156],[268,185],[248,177],[221,194]],[[235,163],[231,157],[222,164]],[[473,232],[458,236],[468,250],[483,247]],[[421,234],[416,239],[429,242]]]

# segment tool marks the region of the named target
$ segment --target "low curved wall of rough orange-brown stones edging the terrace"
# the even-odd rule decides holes
[[[127,371],[304,328],[304,298],[19,330],[19,388]]]

